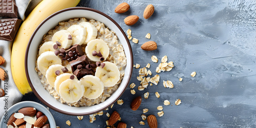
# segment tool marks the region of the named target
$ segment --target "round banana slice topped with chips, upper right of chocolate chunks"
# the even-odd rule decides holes
[[[108,57],[110,54],[109,46],[101,39],[93,39],[88,42],[86,46],[86,54],[92,61],[102,61],[100,60],[100,56],[93,56],[93,51],[96,51],[97,53],[101,52],[104,60],[106,60],[106,57]]]

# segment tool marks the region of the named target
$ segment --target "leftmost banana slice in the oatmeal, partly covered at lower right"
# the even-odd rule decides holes
[[[55,64],[61,65],[61,59],[52,51],[44,52],[37,58],[37,67],[42,75],[46,75],[48,68]]]

